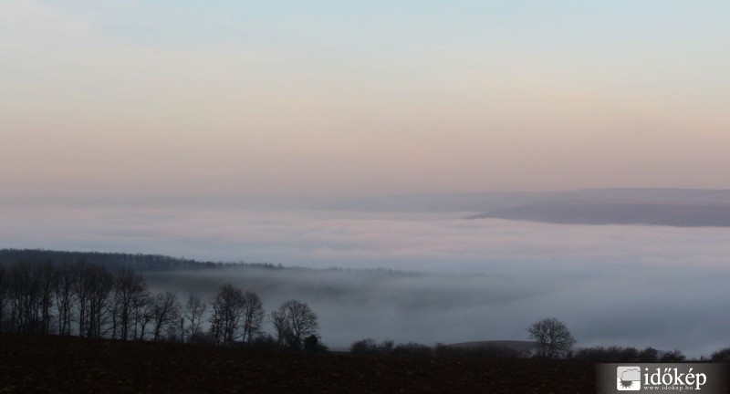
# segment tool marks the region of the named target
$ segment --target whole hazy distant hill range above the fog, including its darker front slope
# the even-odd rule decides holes
[[[730,190],[584,189],[376,196],[318,209],[389,213],[478,213],[469,219],[543,223],[730,227]],[[481,212],[481,213],[480,213]]]

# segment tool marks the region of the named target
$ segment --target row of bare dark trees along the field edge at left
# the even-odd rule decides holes
[[[267,316],[254,292],[225,284],[210,305],[194,294],[183,305],[175,293],[151,292],[130,267],[112,273],[83,260],[0,265],[0,331],[322,348],[317,315],[306,303],[289,300]]]

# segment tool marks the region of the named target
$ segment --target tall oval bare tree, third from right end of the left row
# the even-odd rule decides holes
[[[231,343],[240,337],[239,326],[245,307],[244,293],[231,284],[222,285],[213,300],[211,333],[216,343]]]

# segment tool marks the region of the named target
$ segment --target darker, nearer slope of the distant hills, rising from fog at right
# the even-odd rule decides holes
[[[676,227],[730,227],[730,204],[547,202],[472,216],[544,223],[648,224]]]

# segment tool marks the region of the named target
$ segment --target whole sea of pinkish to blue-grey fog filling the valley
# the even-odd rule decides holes
[[[422,273],[210,271],[150,275],[210,297],[225,281],[268,309],[297,298],[322,338],[455,343],[527,339],[556,316],[579,346],[730,347],[730,229],[466,220],[473,213],[0,207],[0,247],[168,254]]]

